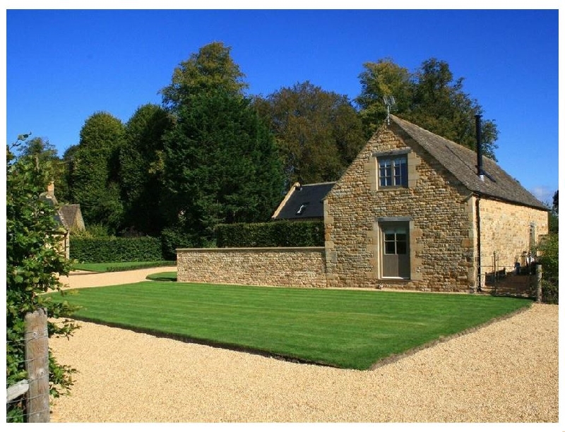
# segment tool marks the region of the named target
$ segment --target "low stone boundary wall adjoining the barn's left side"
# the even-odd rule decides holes
[[[325,248],[177,249],[177,280],[326,288]]]

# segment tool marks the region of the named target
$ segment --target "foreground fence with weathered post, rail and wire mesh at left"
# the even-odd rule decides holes
[[[49,334],[47,314],[39,309],[25,316],[25,359],[16,362],[27,378],[6,388],[6,423],[49,422]]]

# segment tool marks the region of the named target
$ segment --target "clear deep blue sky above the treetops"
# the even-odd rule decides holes
[[[415,71],[446,61],[499,128],[496,157],[544,202],[558,185],[559,11],[6,10],[6,140],[47,138],[62,156],[88,116],[127,121],[160,103],[179,62],[231,47],[249,93],[309,80],[355,98],[367,61]],[[343,7],[343,6],[342,6]]]

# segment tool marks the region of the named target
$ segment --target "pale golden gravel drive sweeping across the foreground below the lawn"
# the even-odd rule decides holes
[[[81,323],[49,342],[78,369],[51,421],[557,423],[558,309],[533,304],[374,371]]]

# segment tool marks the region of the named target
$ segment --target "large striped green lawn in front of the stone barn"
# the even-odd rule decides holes
[[[149,281],[73,294],[66,300],[83,306],[78,319],[357,369],[531,304],[469,294]]]

